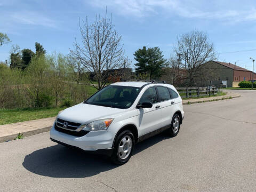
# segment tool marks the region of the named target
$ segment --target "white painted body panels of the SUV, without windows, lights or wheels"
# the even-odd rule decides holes
[[[109,149],[113,147],[113,142],[117,132],[125,125],[133,124],[138,130],[138,138],[157,130],[165,125],[170,125],[173,114],[177,111],[181,112],[182,119],[184,111],[182,107],[182,99],[174,86],[164,83],[149,83],[149,82],[117,82],[111,84],[112,86],[133,86],[142,87],[137,99],[133,105],[128,109],[119,109],[111,107],[103,107],[96,105],[89,105],[79,103],[73,107],[63,110],[57,118],[65,121],[75,122],[80,124],[89,124],[98,119],[114,118],[107,130],[90,131],[82,137],[76,137],[67,133],[62,133],[55,130],[54,125],[50,131],[50,138],[65,143],[67,145],[75,146],[83,150],[98,150]],[[152,86],[169,87],[179,95],[178,98],[159,102],[153,104],[152,108],[140,108],[136,106],[142,94]],[[171,102],[173,102],[171,104]],[[158,109],[155,108],[159,105]]]

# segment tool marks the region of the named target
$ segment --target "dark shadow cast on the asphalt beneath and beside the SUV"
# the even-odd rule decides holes
[[[133,156],[164,139],[170,139],[170,137],[165,137],[161,133],[137,143]],[[59,144],[26,155],[22,165],[30,172],[53,178],[85,178],[118,167],[107,157]]]

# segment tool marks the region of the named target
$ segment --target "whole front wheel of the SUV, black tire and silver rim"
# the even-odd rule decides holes
[[[125,164],[132,156],[134,136],[130,130],[125,130],[117,135],[111,162],[117,165]]]

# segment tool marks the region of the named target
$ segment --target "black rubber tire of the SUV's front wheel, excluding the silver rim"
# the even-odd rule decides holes
[[[125,159],[121,159],[118,155],[118,144],[119,144],[120,140],[125,135],[129,135],[131,137],[131,139],[132,139],[132,149],[131,149],[131,153],[128,157],[126,157]],[[126,163],[131,158],[133,149],[134,149],[134,136],[133,136],[132,132],[130,130],[125,130],[125,131],[121,132],[120,134],[117,135],[117,138],[115,140],[114,151],[113,151],[113,154],[111,156],[112,162],[115,163],[115,164],[119,164],[119,165],[122,165],[122,164]]]

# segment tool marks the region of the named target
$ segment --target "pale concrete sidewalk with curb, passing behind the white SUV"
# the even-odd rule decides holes
[[[238,93],[227,92],[226,95],[218,96],[218,97],[210,97],[210,98],[199,98],[199,99],[186,99],[183,100],[183,105],[187,105],[189,103],[198,103],[198,102],[207,102],[210,100],[222,100],[222,98],[237,98],[240,97]],[[23,133],[23,136],[28,137],[30,135],[43,133],[46,131],[50,131],[51,126],[55,117],[36,119],[31,121],[19,122],[19,123],[11,123],[6,125],[0,125],[0,143],[13,140],[17,137],[18,133]]]

